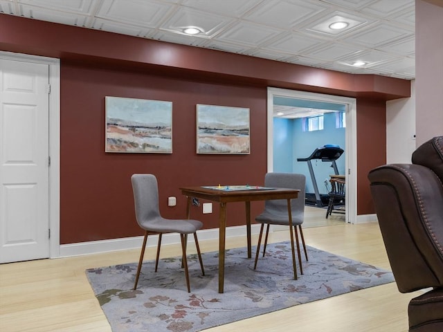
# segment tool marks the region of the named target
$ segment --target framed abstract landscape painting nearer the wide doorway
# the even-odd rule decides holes
[[[249,109],[197,104],[197,154],[249,154]]]

